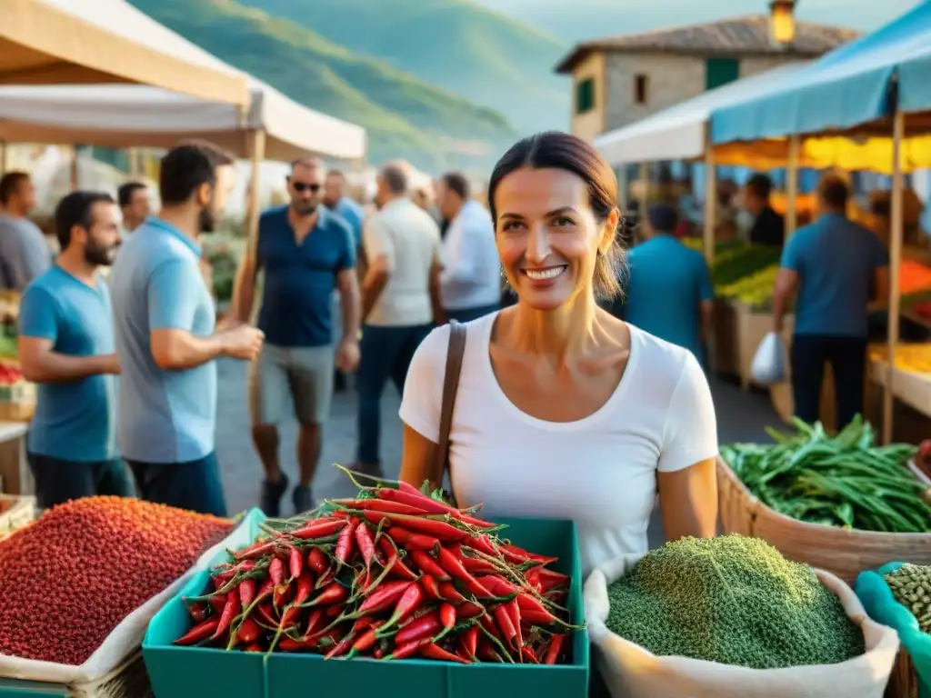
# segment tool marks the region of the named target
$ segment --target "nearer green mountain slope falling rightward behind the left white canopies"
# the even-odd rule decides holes
[[[374,14],[381,1],[365,5]],[[516,138],[507,117],[477,105],[478,100],[431,85],[384,60],[359,56],[306,26],[255,7],[233,0],[131,2],[292,100],[365,127],[373,163],[404,157],[430,170],[487,168]],[[360,19],[344,18],[349,25]]]

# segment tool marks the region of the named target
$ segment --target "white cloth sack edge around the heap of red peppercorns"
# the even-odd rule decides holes
[[[74,684],[90,683],[106,676],[122,664],[130,654],[139,649],[145,631],[149,627],[149,621],[153,619],[155,613],[162,606],[182,590],[184,584],[187,584],[188,580],[197,571],[207,569],[210,561],[222,553],[224,549],[236,549],[252,542],[253,527],[250,525],[250,521],[256,513],[258,513],[258,510],[252,509],[223,541],[200,556],[190,570],[184,572],[168,588],[129,613],[114,628],[113,632],[103,640],[101,646],[88,657],[88,661],[84,664],[80,666],[54,664],[52,662],[40,662],[35,659],[22,659],[8,654],[0,654],[0,677],[19,678],[25,681]],[[261,515],[261,513],[259,514]],[[103,601],[104,599],[101,598],[86,599],[86,603],[103,603]]]

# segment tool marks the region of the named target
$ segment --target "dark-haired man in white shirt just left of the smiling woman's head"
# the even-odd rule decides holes
[[[492,215],[469,198],[458,172],[443,175],[437,186],[440,213],[450,221],[443,238],[439,288],[451,320],[468,322],[501,308],[501,275],[494,245]]]

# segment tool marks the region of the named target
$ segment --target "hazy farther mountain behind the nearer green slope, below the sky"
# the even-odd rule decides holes
[[[565,42],[471,0],[241,2],[487,104],[523,133],[568,121],[569,84],[552,71]]]

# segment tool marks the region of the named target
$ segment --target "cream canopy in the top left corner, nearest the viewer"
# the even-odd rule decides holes
[[[197,52],[121,0],[0,2],[0,84],[138,83],[245,105],[246,76]]]

